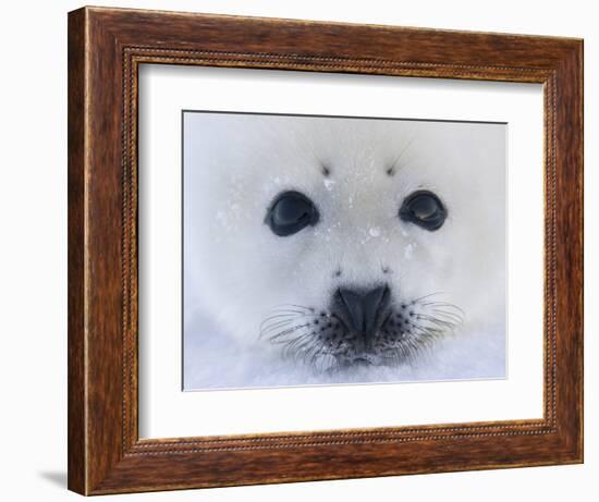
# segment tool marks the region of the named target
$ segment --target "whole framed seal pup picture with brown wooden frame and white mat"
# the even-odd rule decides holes
[[[583,462],[583,41],[69,14],[69,488]]]

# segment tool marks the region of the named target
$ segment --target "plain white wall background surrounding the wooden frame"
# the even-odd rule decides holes
[[[109,4],[97,1],[97,4]],[[594,2],[504,0],[323,2],[124,1],[122,7],[176,9],[457,29],[585,37],[586,88],[586,463],[433,476],[279,485],[127,495],[132,500],[594,500],[599,476],[599,389],[591,302],[597,249],[590,234],[599,203],[590,167],[599,137],[592,94],[599,72]],[[3,432],[0,472],[5,500],[75,500],[66,465],[66,11],[74,1],[3,7],[0,93],[0,352]],[[32,144],[33,143],[33,144]],[[594,215],[595,212],[595,215]],[[595,367],[594,367],[595,366]],[[595,424],[595,425],[594,425]],[[110,499],[110,498],[109,498]]]

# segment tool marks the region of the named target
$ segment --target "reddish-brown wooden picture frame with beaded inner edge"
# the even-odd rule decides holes
[[[144,63],[541,83],[543,418],[140,440],[136,120]],[[579,39],[71,12],[69,488],[98,494],[583,462],[582,128]]]

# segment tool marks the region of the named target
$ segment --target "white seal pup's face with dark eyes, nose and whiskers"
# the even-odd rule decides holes
[[[186,330],[200,311],[215,346],[319,378],[503,376],[503,125],[186,113],[184,134]]]

